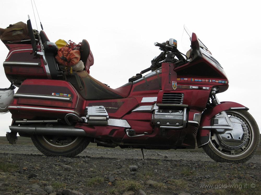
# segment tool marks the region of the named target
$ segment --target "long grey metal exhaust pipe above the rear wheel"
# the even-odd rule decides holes
[[[63,135],[63,136],[86,136],[83,129],[73,126],[54,126],[46,127],[45,125],[20,125],[9,126],[12,132],[26,133],[30,135]]]

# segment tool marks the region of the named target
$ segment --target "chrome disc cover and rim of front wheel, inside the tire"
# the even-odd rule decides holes
[[[216,153],[226,157],[240,157],[246,154],[254,141],[254,130],[250,121],[235,110],[225,111],[232,122],[232,131],[219,134],[211,132],[210,145]]]

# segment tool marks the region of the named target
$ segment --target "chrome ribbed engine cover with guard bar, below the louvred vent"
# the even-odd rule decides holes
[[[186,127],[187,108],[182,110],[154,110],[152,123],[160,128],[182,129]]]

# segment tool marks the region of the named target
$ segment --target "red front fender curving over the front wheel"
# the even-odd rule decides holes
[[[249,110],[247,107],[243,106],[240,103],[236,102],[220,102],[219,105],[205,110],[201,115],[199,130],[197,133],[197,145],[198,148],[202,147],[203,145],[207,144],[210,140],[210,129],[203,129],[203,126],[211,126],[211,119],[216,116],[217,114],[221,113],[225,110],[232,110],[232,109],[245,109]]]

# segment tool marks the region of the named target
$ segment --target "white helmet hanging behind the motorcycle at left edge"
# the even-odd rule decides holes
[[[13,100],[14,89],[13,84],[9,88],[0,89],[0,114],[8,112],[8,106]]]

